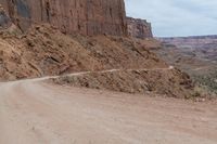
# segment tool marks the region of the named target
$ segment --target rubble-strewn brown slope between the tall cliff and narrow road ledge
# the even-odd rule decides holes
[[[167,67],[140,43],[120,37],[66,36],[49,26],[1,32],[1,80],[112,68]]]

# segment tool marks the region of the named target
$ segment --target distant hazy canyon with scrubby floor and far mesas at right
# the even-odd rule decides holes
[[[217,93],[217,36],[161,39],[154,50],[164,61],[191,76],[193,81]]]

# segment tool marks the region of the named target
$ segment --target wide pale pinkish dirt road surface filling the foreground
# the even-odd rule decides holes
[[[0,83],[0,144],[216,144],[217,104]]]

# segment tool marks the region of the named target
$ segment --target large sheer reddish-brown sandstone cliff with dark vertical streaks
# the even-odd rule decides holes
[[[0,4],[22,30],[44,22],[66,34],[127,35],[124,0],[0,0]]]

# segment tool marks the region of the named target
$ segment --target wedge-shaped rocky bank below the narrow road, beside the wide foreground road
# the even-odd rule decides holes
[[[55,83],[127,93],[154,92],[171,97],[191,97],[192,81],[188,75],[173,68],[122,69],[53,79]]]

